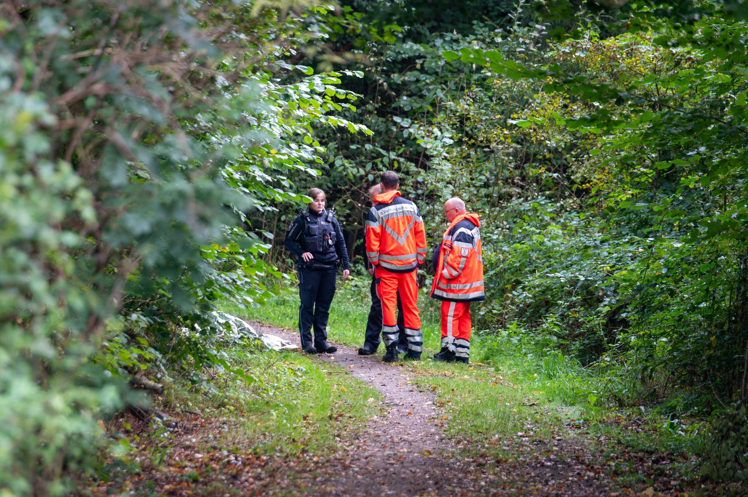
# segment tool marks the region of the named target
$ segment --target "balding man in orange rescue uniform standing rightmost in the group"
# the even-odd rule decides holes
[[[470,302],[485,300],[483,257],[478,214],[468,214],[465,202],[453,197],[444,203],[450,226],[434,253],[431,296],[441,300],[441,351],[434,359],[468,362]]]

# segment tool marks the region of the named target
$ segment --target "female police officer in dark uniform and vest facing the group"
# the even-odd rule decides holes
[[[348,250],[335,213],[325,210],[325,192],[311,188],[309,210],[301,212],[286,229],[283,245],[298,257],[298,331],[301,349],[307,354],[332,354],[327,343],[327,321],[335,294],[337,268],[343,265],[343,280],[350,274]],[[314,345],[311,329],[314,327]]]

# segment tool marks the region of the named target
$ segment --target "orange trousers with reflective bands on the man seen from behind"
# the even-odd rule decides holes
[[[408,351],[420,354],[423,351],[423,336],[418,316],[418,271],[393,273],[377,266],[374,277],[379,280],[377,294],[381,299],[381,338],[388,347],[397,340],[397,292],[400,292],[405,335],[408,336]]]

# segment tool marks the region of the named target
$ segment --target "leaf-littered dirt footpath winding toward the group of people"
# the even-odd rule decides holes
[[[298,335],[252,324],[298,345]],[[332,466],[319,468],[319,477],[304,481],[308,494],[319,496],[496,496],[530,493],[538,496],[608,496],[607,477],[589,471],[589,450],[580,442],[557,441],[562,457],[541,457],[502,463],[486,457],[454,457],[456,447],[442,431],[447,416],[435,404],[436,395],[419,392],[409,382],[408,368],[381,362],[377,356],[337,345],[336,354],[319,354],[322,362],[349,368],[386,397],[387,416],[376,416],[358,441],[360,450]],[[407,364],[407,362],[400,362]],[[544,443],[536,445],[542,451]],[[576,446],[573,452],[571,445]],[[580,457],[574,457],[574,456]],[[564,458],[566,460],[559,460]],[[602,478],[601,478],[602,477]]]

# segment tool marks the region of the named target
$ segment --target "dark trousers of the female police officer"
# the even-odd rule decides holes
[[[298,306],[298,331],[301,333],[301,348],[307,348],[327,342],[327,321],[335,296],[337,268],[299,269],[298,278],[298,297],[301,300]]]

